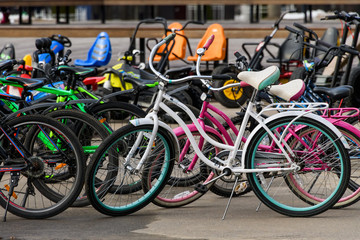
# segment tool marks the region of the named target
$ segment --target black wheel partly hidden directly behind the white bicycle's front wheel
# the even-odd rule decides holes
[[[141,108],[126,102],[97,104],[89,108],[88,113],[102,122],[109,132],[125,126],[131,119],[146,116],[146,113]]]

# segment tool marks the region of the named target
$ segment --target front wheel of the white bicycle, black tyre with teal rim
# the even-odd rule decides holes
[[[170,133],[161,127],[150,143],[152,128],[124,126],[95,152],[86,172],[86,192],[99,212],[111,216],[134,213],[149,204],[166,184],[174,166],[175,148]],[[126,158],[139,136],[140,144]],[[149,144],[152,149],[144,164],[135,169]],[[153,171],[157,174],[151,174]]]

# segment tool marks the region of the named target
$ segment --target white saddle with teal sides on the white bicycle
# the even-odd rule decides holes
[[[270,66],[259,72],[240,72],[237,77],[255,89],[262,90],[279,79],[280,70],[276,66]]]

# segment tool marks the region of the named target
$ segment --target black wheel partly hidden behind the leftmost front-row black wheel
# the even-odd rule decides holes
[[[66,124],[75,133],[82,145],[87,163],[90,162],[90,158],[95,153],[97,147],[110,135],[103,124],[84,112],[64,109],[48,113],[47,116]],[[83,187],[72,206],[84,207],[89,204],[85,194],[85,187]]]

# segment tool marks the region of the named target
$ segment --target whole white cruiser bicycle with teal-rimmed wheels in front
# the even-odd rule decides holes
[[[286,107],[286,110],[290,111],[275,114],[264,120],[261,115],[252,111],[255,97],[253,95],[234,146],[218,143],[205,133],[186,106],[166,95],[167,83],[194,79],[211,80],[212,77],[187,76],[169,80],[152,67],[152,58],[157,48],[173,37],[174,34],[166,37],[150,54],[150,67],[160,79],[154,111],[146,118],[132,120],[131,124],[115,131],[100,145],[91,159],[86,172],[86,191],[92,206],[103,214],[127,215],[145,207],[164,188],[174,161],[178,159],[180,149],[173,132],[157,119],[157,112],[162,108],[184,128],[192,147],[203,163],[220,172],[219,176],[206,184],[234,173],[237,176],[236,185],[239,176],[247,173],[247,179],[256,196],[269,208],[281,214],[308,217],[332,207],[347,187],[350,168],[349,156],[345,148],[348,144],[345,139],[332,124],[311,113],[326,108],[327,104],[307,104],[308,111],[296,108],[294,104],[269,105],[263,111],[279,110],[279,106]],[[198,49],[197,64],[208,46],[207,42],[204,48]],[[261,90],[278,80],[279,70],[277,67],[270,67],[260,72],[242,72],[238,77]],[[228,85],[228,87],[237,85]],[[214,90],[209,84],[207,87]],[[280,90],[281,86],[277,89]],[[297,94],[300,90],[295,88],[292,94]],[[278,95],[286,98],[283,96],[283,91],[284,89],[279,91]],[[163,99],[184,109],[206,141],[224,150],[214,158],[208,159],[198,148],[189,128],[162,103]],[[303,105],[305,107],[305,104]],[[238,151],[246,126],[245,121],[250,116],[259,122],[259,126],[252,131],[242,148],[243,151]],[[294,131],[294,129],[300,130]],[[307,144],[304,142],[305,139]],[[268,151],[257,151],[259,147]],[[323,156],[320,157],[319,154]],[[310,161],[306,159],[307,157]],[[326,175],[324,177],[327,181],[321,181],[320,184],[312,182],[312,190],[314,187],[316,190],[309,192],[304,189],[304,185],[307,185],[309,179],[307,177],[312,174],[318,175],[317,180],[323,180],[320,175]],[[142,182],[142,189],[132,189],[131,183],[138,182],[139,179]],[[299,179],[302,181],[299,182]],[[334,185],[327,184],[329,179]],[[109,192],[114,183],[118,186],[117,191]],[[326,192],[323,191],[325,190],[323,184],[326,185]],[[272,190],[273,187],[276,188],[275,191]],[[282,195],[278,198],[274,195],[280,192],[287,194],[287,197]],[[320,192],[321,196],[318,195]],[[309,204],[304,201],[309,198],[318,202],[313,201]]]

